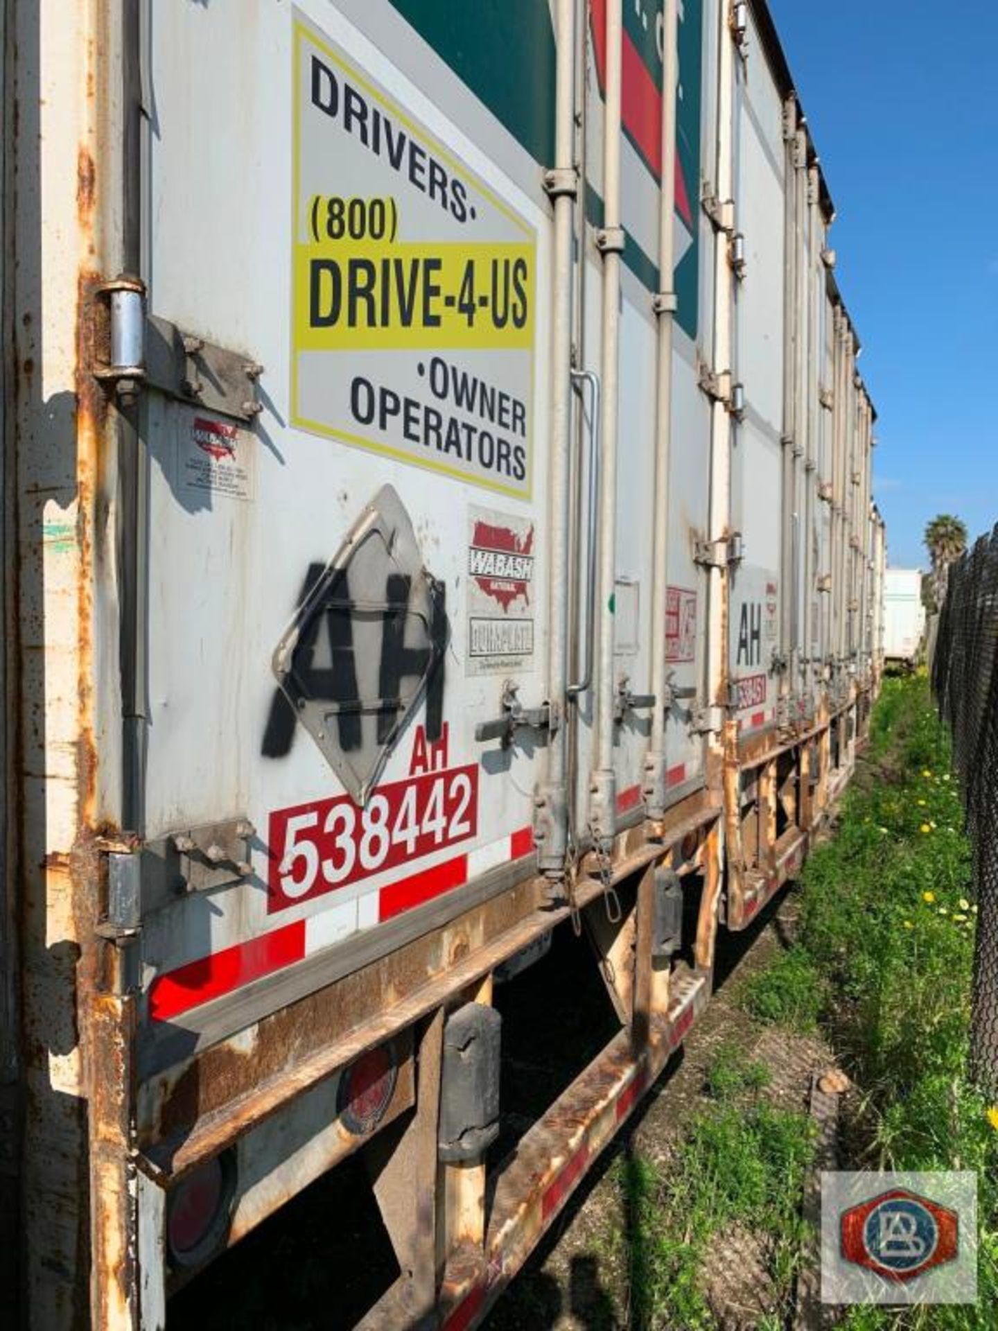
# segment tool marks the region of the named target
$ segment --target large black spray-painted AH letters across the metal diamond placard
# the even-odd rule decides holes
[[[283,689],[277,688],[270,703],[261,752],[263,757],[285,757],[291,751],[297,729],[295,704],[299,701],[329,704],[335,709],[339,747],[350,753],[363,743],[362,717],[366,712],[378,715],[378,743],[394,741],[399,712],[403,707],[402,681],[426,677],[426,737],[435,741],[443,733],[444,651],[447,647],[446,588],[430,579],[431,616],[428,644],[406,647],[406,623],[411,614],[409,574],[389,574],[385,600],[377,606],[358,603],[350,595],[349,571],[338,570],[329,588],[315,599],[315,591],[325,572],[323,564],[310,564],[298,604],[303,616],[298,643],[291,655],[290,671]],[[378,697],[362,699],[357,683],[354,656],[354,620],[357,616],[381,618],[381,660],[378,664]],[[326,632],[327,652],[321,635]],[[326,656],[327,666],[318,666],[317,658]]]

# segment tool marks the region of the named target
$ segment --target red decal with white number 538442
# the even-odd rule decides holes
[[[478,768],[381,785],[363,808],[343,795],[270,815],[267,912],[466,841],[478,832]]]

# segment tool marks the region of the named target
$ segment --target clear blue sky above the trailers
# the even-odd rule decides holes
[[[998,5],[769,0],[836,202],[894,566],[998,520]]]

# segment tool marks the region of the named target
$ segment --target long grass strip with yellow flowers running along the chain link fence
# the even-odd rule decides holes
[[[753,977],[765,1021],[821,1021],[861,1089],[853,1167],[975,1170],[977,1307],[852,1310],[849,1331],[998,1326],[998,1131],[967,1075],[975,905],[947,736],[923,677],[888,679],[870,761],[801,878],[794,946]]]

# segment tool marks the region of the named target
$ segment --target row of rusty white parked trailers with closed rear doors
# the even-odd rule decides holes
[[[468,1327],[865,735],[832,200],[762,0],[71,9],[3,9],[4,1306],[162,1327],[362,1153],[366,1324]],[[570,921],[619,1034],[496,1159]]]

